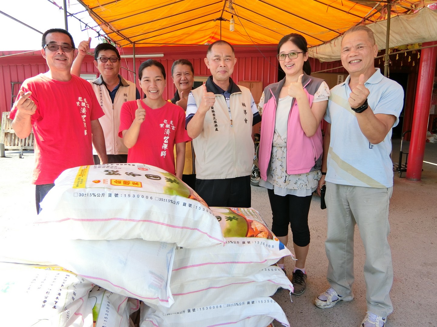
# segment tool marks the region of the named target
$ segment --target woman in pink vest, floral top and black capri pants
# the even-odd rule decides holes
[[[302,35],[285,35],[277,46],[277,60],[285,78],[268,85],[259,104],[262,107],[260,186],[266,187],[269,194],[272,231],[284,245],[288,243],[288,225],[291,226],[297,259],[291,282],[295,288],[293,294],[300,295],[306,289],[312,192],[325,173],[320,171],[320,122],[326,111],[329,87],[322,79],[310,76],[307,42]],[[284,269],[284,259],[277,265]]]

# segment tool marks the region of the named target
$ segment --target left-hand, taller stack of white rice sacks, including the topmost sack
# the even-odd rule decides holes
[[[26,271],[0,274],[1,303],[17,304],[13,300],[21,298],[28,299],[25,307],[41,307],[38,292],[59,293],[61,287],[45,283],[37,292],[25,286],[35,279],[29,277],[35,271],[54,265],[68,269],[77,283],[82,279],[86,283],[82,282],[83,291],[76,292],[74,301],[57,305],[59,312],[43,311],[21,323],[23,307],[8,307],[2,319],[16,322],[10,325],[92,326],[93,307],[87,299],[95,285],[108,290],[112,299],[124,297],[124,303],[133,298],[169,307],[173,303],[170,277],[176,243],[204,247],[225,242],[220,224],[198,194],[174,175],[144,164],[65,170],[41,207],[34,225],[17,226],[0,236],[0,262],[9,262],[5,269]],[[24,284],[10,287],[21,275]],[[114,305],[128,326],[130,310]],[[59,315],[63,318],[52,319]],[[106,321],[105,327],[120,326],[119,320]]]

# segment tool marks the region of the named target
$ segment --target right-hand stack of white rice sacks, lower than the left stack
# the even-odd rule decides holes
[[[269,296],[279,287],[293,290],[274,265],[291,255],[253,208],[215,208],[224,245],[177,247],[170,290],[171,307],[141,308],[141,327],[267,326],[274,319],[289,326],[281,307]]]

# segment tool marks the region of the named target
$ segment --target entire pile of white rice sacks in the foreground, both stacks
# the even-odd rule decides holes
[[[173,326],[167,317],[174,326],[208,326],[218,321],[214,314],[172,313],[210,307],[232,320],[220,320],[223,325],[267,326],[277,319],[289,326],[268,296],[278,287],[292,289],[281,269],[270,266],[291,253],[253,209],[208,208],[177,177],[144,164],[66,170],[41,206],[34,225],[0,235],[0,262],[11,272],[0,274],[0,305],[21,298],[35,310],[22,323],[23,308],[6,306],[6,321],[128,327],[141,300],[141,326]],[[37,283],[52,279],[42,271],[75,279],[35,288],[35,272]],[[57,311],[41,311],[45,292],[65,298]],[[243,302],[244,310],[234,304]]]

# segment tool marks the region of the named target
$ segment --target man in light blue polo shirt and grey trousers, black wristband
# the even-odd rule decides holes
[[[399,123],[402,87],[375,68],[378,53],[373,32],[352,27],[343,35],[341,61],[349,73],[331,90],[325,120],[322,174],[326,181],[327,238],[330,287],[315,304],[331,308],[353,300],[354,226],[366,252],[368,312],[362,327],[383,327],[393,306],[392,257],[387,236],[388,205],[393,189],[392,128]]]

